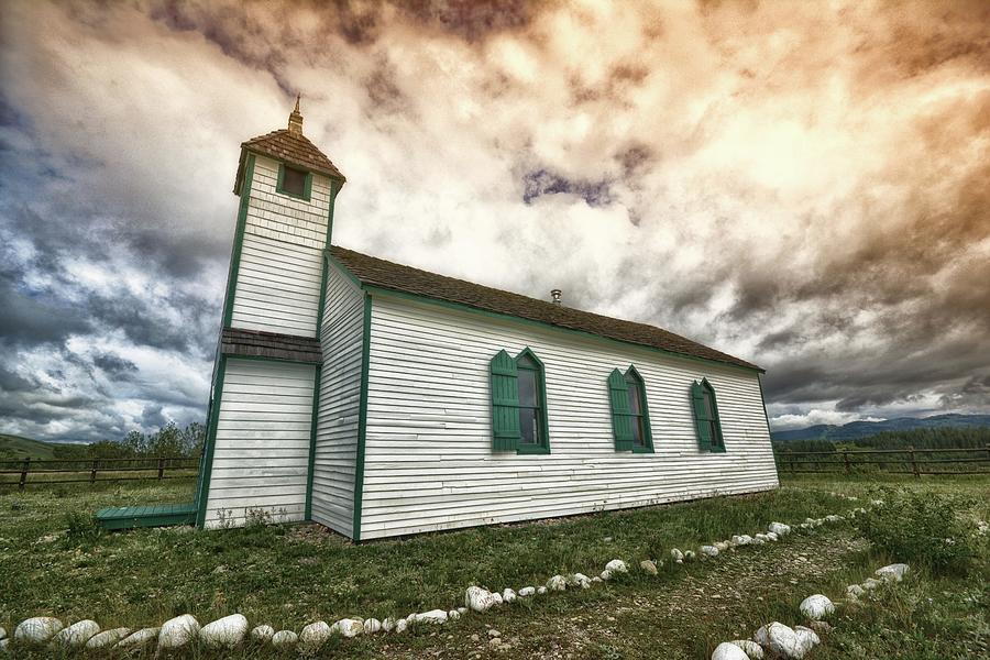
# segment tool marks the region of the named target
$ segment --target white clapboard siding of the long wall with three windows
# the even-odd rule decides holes
[[[488,363],[546,367],[549,455],[492,451]],[[652,454],[616,452],[606,378],[635,364]],[[715,387],[726,452],[702,452],[690,386]],[[757,374],[387,295],[374,296],[362,538],[773,488]]]

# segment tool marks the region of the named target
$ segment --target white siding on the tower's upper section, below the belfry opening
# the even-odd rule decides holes
[[[231,327],[316,337],[330,179],[312,176],[310,200],[276,193],[278,163],[256,156]]]

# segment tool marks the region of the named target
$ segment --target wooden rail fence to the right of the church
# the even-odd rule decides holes
[[[781,473],[990,474],[990,444],[972,449],[776,451]]]

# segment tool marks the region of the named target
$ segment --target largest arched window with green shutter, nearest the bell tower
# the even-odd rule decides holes
[[[492,449],[550,453],[543,363],[529,349],[515,359],[498,351],[491,363]]]

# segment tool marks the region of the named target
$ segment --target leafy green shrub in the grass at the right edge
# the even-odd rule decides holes
[[[972,526],[959,512],[968,502],[931,491],[882,490],[883,504],[856,518],[859,531],[895,561],[937,573],[965,573],[977,554]]]

